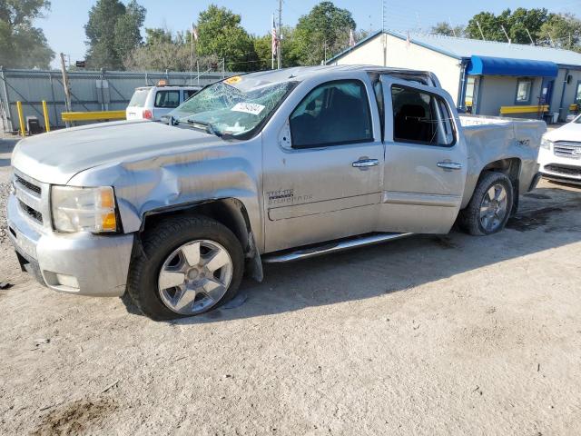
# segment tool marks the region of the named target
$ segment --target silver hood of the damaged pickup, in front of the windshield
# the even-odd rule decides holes
[[[95,166],[217,144],[223,141],[212,134],[149,121],[90,124],[20,141],[12,165],[40,182],[66,184]]]

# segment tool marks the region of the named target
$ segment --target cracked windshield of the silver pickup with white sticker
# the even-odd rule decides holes
[[[180,124],[240,137],[261,124],[293,86],[236,75],[203,89],[171,115]]]

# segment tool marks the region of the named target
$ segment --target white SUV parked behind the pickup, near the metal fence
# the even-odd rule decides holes
[[[159,120],[202,89],[202,86],[143,86],[136,88],[125,109],[128,120]]]

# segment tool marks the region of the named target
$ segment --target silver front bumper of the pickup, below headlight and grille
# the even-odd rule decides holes
[[[133,234],[47,232],[25,217],[14,194],[8,198],[7,221],[23,269],[45,286],[103,297],[125,292]]]

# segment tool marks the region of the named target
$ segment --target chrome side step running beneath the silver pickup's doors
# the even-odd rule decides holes
[[[413,233],[369,233],[355,236],[350,239],[341,239],[320,245],[310,245],[299,250],[269,253],[262,256],[263,263],[284,263],[299,261],[309,257],[320,256],[321,254],[337,253],[350,248],[363,247],[374,243],[384,243],[396,239],[405,238]]]

